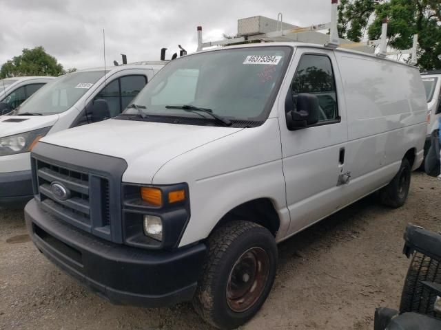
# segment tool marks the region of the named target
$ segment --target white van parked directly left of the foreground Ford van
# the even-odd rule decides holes
[[[66,74],[41,88],[12,115],[1,116],[0,205],[32,198],[30,151],[41,137],[118,115],[165,63],[108,67],[105,74],[103,68]]]

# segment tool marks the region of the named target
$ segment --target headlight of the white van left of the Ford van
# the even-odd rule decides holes
[[[0,137],[0,156],[15,155],[31,151],[37,142],[48,133],[50,127],[26,133]]]

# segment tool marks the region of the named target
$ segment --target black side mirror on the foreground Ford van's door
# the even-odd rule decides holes
[[[285,113],[289,131],[305,129],[307,126],[316,124],[320,113],[317,96],[302,93],[298,94],[296,99],[297,102],[294,104],[294,98],[289,92],[285,100]]]

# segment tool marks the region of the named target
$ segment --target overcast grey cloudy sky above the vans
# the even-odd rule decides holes
[[[158,60],[178,44],[196,50],[196,26],[204,41],[237,32],[237,19],[263,15],[299,26],[330,21],[330,0],[0,0],[0,64],[23,48],[43,46],[65,67],[107,65],[113,60]]]

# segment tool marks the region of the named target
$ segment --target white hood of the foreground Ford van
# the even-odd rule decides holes
[[[150,184],[170,159],[242,129],[109,119],[54,133],[41,142],[125,159],[126,172],[141,164],[143,173],[131,172],[130,178]]]

